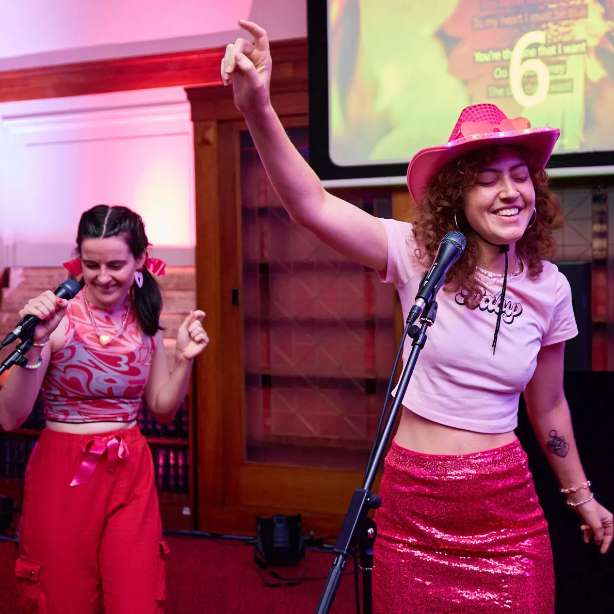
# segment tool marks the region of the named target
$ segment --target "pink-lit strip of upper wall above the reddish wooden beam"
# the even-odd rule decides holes
[[[0,0],[0,70],[208,49],[239,18],[271,40],[306,36],[306,0]]]

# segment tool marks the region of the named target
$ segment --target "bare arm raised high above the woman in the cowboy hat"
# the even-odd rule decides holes
[[[246,119],[266,174],[295,222],[352,260],[386,268],[388,243],[378,219],[326,192],[317,175],[292,145],[269,97],[271,54],[266,32],[252,21],[239,25],[254,43],[239,38],[226,48],[221,76],[232,84],[235,104]]]

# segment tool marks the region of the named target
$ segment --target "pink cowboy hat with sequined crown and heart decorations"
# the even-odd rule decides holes
[[[424,197],[437,172],[467,152],[490,145],[521,145],[541,155],[546,165],[561,131],[531,128],[524,117],[508,119],[494,104],[472,104],[461,111],[448,142],[421,149],[407,169],[407,187],[416,203]]]

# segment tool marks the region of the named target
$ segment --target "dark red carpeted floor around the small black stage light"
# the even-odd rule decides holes
[[[316,610],[324,580],[265,586],[254,563],[252,546],[193,537],[165,539],[171,549],[166,559],[166,614],[313,614]],[[15,543],[0,542],[0,614],[18,612],[15,558]],[[332,561],[332,554],[308,550],[301,567],[276,571],[284,577],[325,577]],[[351,561],[347,569],[353,569]],[[267,581],[276,582],[270,573],[263,573]],[[353,577],[341,581],[331,612],[356,612]]]

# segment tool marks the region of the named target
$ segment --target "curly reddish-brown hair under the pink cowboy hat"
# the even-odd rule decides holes
[[[523,259],[530,276],[536,278],[542,273],[542,260],[549,260],[556,252],[552,233],[562,227],[561,210],[558,198],[548,187],[548,173],[538,155],[524,147],[510,149],[526,161],[535,188],[535,222],[516,242],[516,253]],[[462,211],[465,195],[476,184],[481,169],[497,160],[500,151],[499,146],[484,147],[444,166],[424,193],[418,218],[413,222],[413,233],[418,243],[414,256],[422,266],[430,268],[443,236],[450,230],[456,230],[456,214],[459,230],[467,236],[467,247],[448,271],[444,289],[446,292],[462,290],[465,305],[472,309],[480,305],[486,289],[476,276],[478,239]]]

